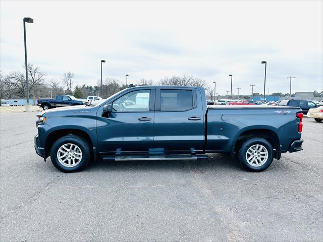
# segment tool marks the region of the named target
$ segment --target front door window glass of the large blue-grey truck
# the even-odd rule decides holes
[[[113,102],[115,112],[148,112],[150,90],[129,92]]]

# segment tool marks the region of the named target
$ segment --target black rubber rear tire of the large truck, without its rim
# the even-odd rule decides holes
[[[264,164],[260,166],[253,166],[248,163],[246,158],[246,153],[248,149],[254,145],[262,145],[268,153],[267,160]],[[270,142],[263,138],[252,138],[250,140],[246,140],[242,143],[242,145],[238,148],[236,155],[240,165],[249,171],[259,172],[267,169],[273,162],[274,159],[274,149]],[[258,161],[255,161],[258,162]]]

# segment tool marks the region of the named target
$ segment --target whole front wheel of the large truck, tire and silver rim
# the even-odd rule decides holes
[[[50,159],[59,170],[75,172],[87,166],[91,158],[90,153],[90,146],[86,140],[76,135],[67,135],[52,145]]]

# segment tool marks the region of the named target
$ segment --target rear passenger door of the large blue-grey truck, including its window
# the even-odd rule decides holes
[[[194,88],[156,89],[154,146],[164,151],[202,150],[204,116]]]

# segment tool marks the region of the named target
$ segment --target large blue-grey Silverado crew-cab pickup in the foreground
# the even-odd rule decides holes
[[[90,159],[197,160],[227,153],[249,171],[262,171],[283,152],[302,150],[298,107],[207,106],[201,87],[140,86],[97,105],[37,115],[36,153],[64,172]]]

